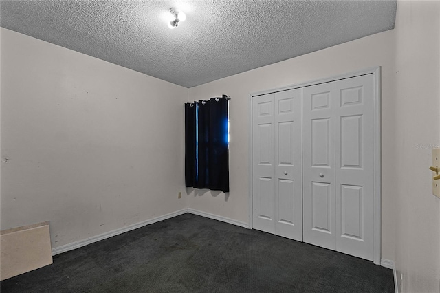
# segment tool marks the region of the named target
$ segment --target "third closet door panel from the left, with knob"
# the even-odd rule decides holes
[[[303,88],[304,241],[336,249],[335,83]]]

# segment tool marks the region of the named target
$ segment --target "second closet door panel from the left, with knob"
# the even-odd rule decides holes
[[[302,90],[275,94],[276,235],[303,240]]]

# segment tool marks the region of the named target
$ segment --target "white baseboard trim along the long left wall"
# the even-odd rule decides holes
[[[94,237],[90,237],[90,238],[83,239],[83,240],[80,240],[80,241],[76,241],[76,242],[72,242],[72,243],[69,243],[69,244],[65,244],[63,246],[52,248],[52,256],[56,255],[56,254],[63,253],[63,252],[67,252],[69,250],[74,250],[76,248],[87,246],[87,245],[89,245],[91,243],[95,243],[95,242],[98,242],[98,241],[101,241],[101,240],[104,240],[104,239],[107,239],[107,238],[110,238],[110,237],[113,237],[113,236],[116,236],[116,235],[120,235],[120,234],[122,234],[124,232],[129,232],[131,230],[135,230],[137,228],[141,228],[141,227],[146,226],[146,225],[154,224],[154,223],[157,223],[158,221],[164,221],[166,219],[170,219],[172,217],[176,217],[178,215],[183,215],[183,214],[186,214],[186,213],[188,213],[188,209],[184,208],[184,209],[181,209],[181,210],[177,210],[177,211],[175,211],[173,213],[168,213],[166,215],[155,217],[153,219],[148,219],[146,221],[141,221],[141,222],[136,223],[136,224],[131,224],[129,226],[125,226],[125,227],[122,227],[122,228],[119,228],[119,229],[116,229],[116,230],[105,232],[105,233],[102,233],[100,235],[96,235]]]

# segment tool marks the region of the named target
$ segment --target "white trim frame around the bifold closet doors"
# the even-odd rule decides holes
[[[362,76],[366,74],[373,74],[373,131],[374,131],[374,152],[373,152],[373,162],[374,162],[374,259],[373,262],[376,265],[381,263],[381,248],[382,248],[382,147],[381,147],[381,67],[371,67],[362,69],[356,72],[349,72],[347,74],[341,74],[338,76],[332,76],[330,78],[323,78],[318,80],[312,80],[307,83],[299,83],[294,85],[289,85],[286,87],[278,87],[276,89],[268,89],[265,91],[258,91],[249,94],[249,228],[253,228],[252,223],[252,98],[254,96],[261,96],[263,94],[271,94],[279,91],[288,91],[290,89],[298,89],[301,87],[307,87],[310,85],[318,85],[320,83],[329,83],[331,81],[341,80],[345,78],[352,78],[355,76]]]

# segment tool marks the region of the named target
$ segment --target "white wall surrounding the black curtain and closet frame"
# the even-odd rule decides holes
[[[394,32],[330,47],[189,89],[189,100],[221,94],[230,101],[230,194],[187,190],[190,208],[248,222],[249,94],[382,66],[382,257],[393,259]]]

